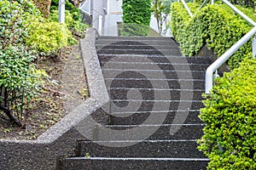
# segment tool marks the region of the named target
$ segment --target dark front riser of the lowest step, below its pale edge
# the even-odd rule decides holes
[[[63,170],[207,170],[208,161],[109,161],[90,159],[65,159],[61,162]]]

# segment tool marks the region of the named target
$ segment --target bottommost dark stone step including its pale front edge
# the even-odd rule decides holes
[[[207,170],[207,159],[71,157],[60,160],[58,170]]]

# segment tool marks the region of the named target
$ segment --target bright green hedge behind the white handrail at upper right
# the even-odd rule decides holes
[[[234,14],[225,4],[207,5],[198,10],[199,4],[188,3],[194,17],[191,19],[182,3],[172,3],[172,35],[180,43],[183,55],[193,56],[207,44],[215,54],[221,56],[253,26]],[[253,10],[240,8],[250,17]],[[241,60],[252,51],[252,42],[248,41],[229,59],[231,68],[236,68]]]

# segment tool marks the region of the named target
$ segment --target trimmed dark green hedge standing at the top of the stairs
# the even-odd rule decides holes
[[[148,36],[151,0],[123,0],[122,36]]]

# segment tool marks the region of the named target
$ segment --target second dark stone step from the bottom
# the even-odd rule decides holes
[[[78,141],[79,153],[77,153],[77,156],[89,154],[91,157],[205,158],[201,151],[197,150],[197,146],[196,140],[113,140],[94,142],[80,140]]]

